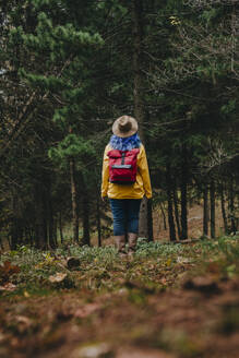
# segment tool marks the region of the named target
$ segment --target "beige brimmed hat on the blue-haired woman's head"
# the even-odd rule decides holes
[[[122,116],[112,124],[112,133],[120,138],[127,138],[135,134],[138,131],[138,122],[135,118]]]

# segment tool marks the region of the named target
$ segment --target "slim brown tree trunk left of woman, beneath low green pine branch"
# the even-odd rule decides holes
[[[70,158],[70,177],[71,177],[71,202],[72,202],[72,224],[73,224],[73,240],[79,243],[79,204],[75,179],[75,163],[74,158]]]

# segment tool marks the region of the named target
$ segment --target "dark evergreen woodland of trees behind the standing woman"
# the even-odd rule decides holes
[[[110,234],[100,201],[113,120],[134,116],[170,240],[238,230],[237,0],[1,0],[0,242],[56,248]],[[80,234],[79,234],[80,231]],[[109,234],[108,234],[109,232]]]

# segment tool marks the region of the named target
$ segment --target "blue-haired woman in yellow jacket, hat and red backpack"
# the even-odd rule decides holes
[[[112,124],[112,133],[104,153],[101,198],[109,198],[115,243],[118,252],[124,255],[127,235],[129,254],[135,251],[141,200],[144,195],[152,198],[152,189],[146,153],[138,135],[136,120],[130,116],[118,118]],[[134,170],[134,162],[135,177],[132,172],[130,179],[120,177],[123,171],[130,170],[129,167]]]

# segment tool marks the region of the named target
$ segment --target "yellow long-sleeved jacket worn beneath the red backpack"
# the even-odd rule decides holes
[[[103,160],[101,198],[142,199],[144,195],[146,195],[147,199],[152,198],[151,178],[144,146],[140,146],[140,153],[138,154],[136,181],[129,186],[109,182],[109,157],[107,156],[107,153],[110,150],[111,147],[108,144],[105,148]]]

